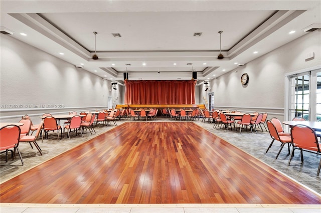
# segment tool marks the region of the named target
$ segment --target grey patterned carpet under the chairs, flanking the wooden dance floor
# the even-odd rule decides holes
[[[174,121],[170,120],[168,117],[158,117],[155,121]],[[117,120],[117,124],[121,125],[121,123],[126,122],[126,120]],[[145,121],[139,121],[145,122]],[[150,121],[147,121],[150,122]],[[184,121],[176,121],[176,122],[184,122]],[[189,121],[190,122],[190,121]],[[240,133],[239,131],[231,131],[226,129],[213,128],[213,123],[201,122],[199,120],[193,121],[203,128],[209,130],[210,132],[222,137],[226,141],[231,144],[243,149],[247,153],[253,155],[254,157],[260,159],[266,164],[274,167],[275,169],[283,172],[284,174],[292,177],[303,185],[311,188],[312,190],[321,193],[321,177],[320,175],[316,175],[317,166],[320,160],[320,155],[303,152],[304,154],[304,162],[302,163],[300,160],[299,152],[295,152],[295,156],[291,160],[291,165],[287,166],[288,162],[288,151],[287,147],[284,146],[281,151],[278,159],[275,159],[275,156],[280,148],[280,142],[275,141],[270,148],[270,150],[265,153],[268,145],[271,142],[271,137],[268,132],[258,131],[258,133],[251,133],[251,131],[245,131]],[[75,133],[71,133],[71,139],[68,139],[67,134],[65,133],[65,137],[57,141],[57,132],[50,132],[49,139],[44,139],[41,142],[41,139],[38,139],[38,143],[42,148],[43,155],[40,155],[38,150],[34,147],[33,149],[29,145],[29,143],[21,143],[19,144],[20,151],[22,152],[22,156],[25,162],[25,165],[22,166],[21,160],[17,154],[14,160],[9,158],[9,161],[6,163],[5,154],[1,155],[1,182],[4,182],[24,171],[37,166],[38,164],[51,159],[58,154],[67,151],[78,144],[81,144],[87,141],[90,138],[93,138],[111,128],[115,127],[113,124],[110,126],[97,126],[95,127],[96,133],[93,135],[87,130],[84,132],[84,137],[81,135],[75,136]]]

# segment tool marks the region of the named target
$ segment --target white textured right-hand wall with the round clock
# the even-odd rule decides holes
[[[314,59],[305,60],[308,52],[314,52]],[[321,32],[316,30],[211,80],[208,92],[214,92],[215,108],[267,111],[269,117],[283,119],[285,73],[320,64]],[[244,72],[249,75],[247,86],[240,81]],[[203,85],[199,91],[199,102],[202,102],[201,98],[207,96]]]

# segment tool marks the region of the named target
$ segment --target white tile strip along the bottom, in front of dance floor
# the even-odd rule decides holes
[[[295,204],[24,204],[1,203],[1,213],[115,212],[115,213],[211,213],[280,212],[320,213],[321,205]]]

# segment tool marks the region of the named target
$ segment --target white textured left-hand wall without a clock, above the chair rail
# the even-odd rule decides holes
[[[114,95],[110,81],[9,35],[1,35],[0,77],[1,121],[18,121],[24,114],[107,108],[108,95]],[[33,106],[42,104],[53,107]]]

